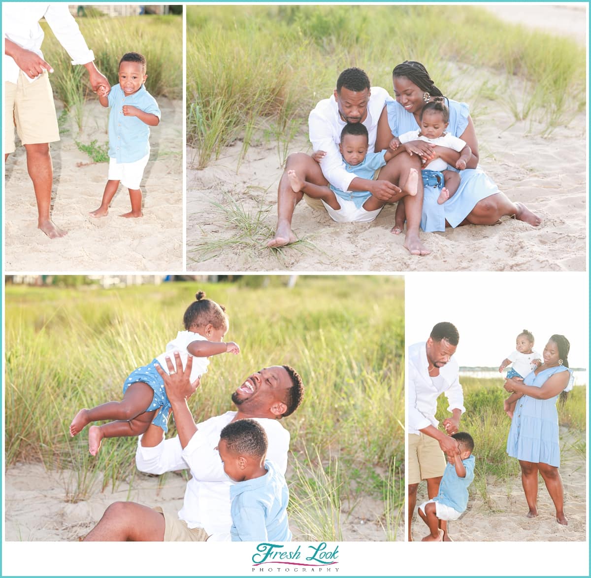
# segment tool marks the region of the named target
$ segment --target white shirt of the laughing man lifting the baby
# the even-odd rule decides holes
[[[140,472],[161,474],[189,469],[183,507],[178,517],[189,528],[204,528],[209,540],[230,540],[230,486],[234,482],[223,470],[222,459],[216,447],[220,431],[233,420],[235,411],[216,415],[197,424],[197,431],[183,450],[178,436],[161,441],[155,447],[142,447],[139,436],[135,464]],[[256,418],[267,432],[269,447],[267,459],[275,469],[285,475],[290,433],[278,420]]]

